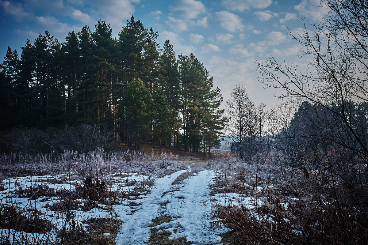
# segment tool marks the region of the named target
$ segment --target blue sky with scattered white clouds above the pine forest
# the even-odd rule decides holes
[[[258,82],[254,61],[273,55],[305,66],[289,30],[302,33],[303,18],[309,29],[326,13],[319,0],[0,0],[0,55],[8,46],[21,54],[26,40],[45,30],[64,42],[68,32],[85,25],[93,31],[99,19],[110,23],[117,36],[133,14],[159,33],[161,47],[169,39],[177,55],[193,53],[213,76],[224,103],[241,84],[255,104],[275,107],[280,100],[273,94],[281,91]]]

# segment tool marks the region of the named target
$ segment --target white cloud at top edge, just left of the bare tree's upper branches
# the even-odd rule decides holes
[[[301,16],[307,16],[315,21],[321,21],[321,19],[327,14],[326,7],[321,7],[319,0],[302,0],[299,5],[294,6],[299,11]]]

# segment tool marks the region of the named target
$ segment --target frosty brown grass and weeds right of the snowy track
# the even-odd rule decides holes
[[[224,244],[367,243],[367,205],[348,195],[358,175],[332,176],[328,168],[293,168],[279,160],[217,154],[208,162],[216,172],[212,226],[231,229]]]

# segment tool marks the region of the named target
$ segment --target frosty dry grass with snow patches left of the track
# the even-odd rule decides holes
[[[173,155],[1,155],[0,244],[115,244],[119,212],[133,214]]]

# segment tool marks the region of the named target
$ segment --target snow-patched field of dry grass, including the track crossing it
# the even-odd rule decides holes
[[[2,160],[4,245],[307,244],[311,217],[325,215],[308,215],[315,183],[302,170],[281,172],[265,158],[96,151]]]

